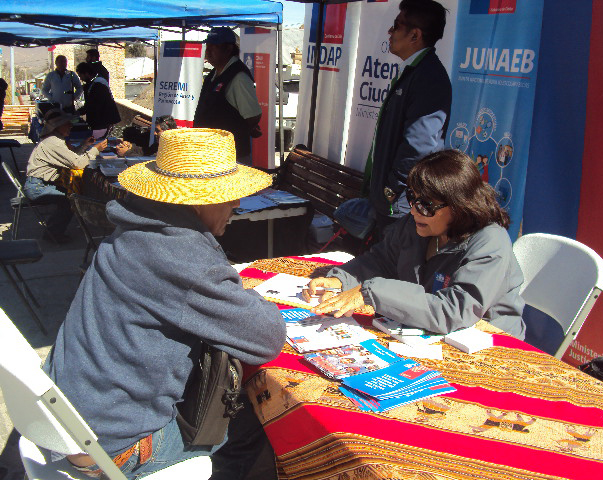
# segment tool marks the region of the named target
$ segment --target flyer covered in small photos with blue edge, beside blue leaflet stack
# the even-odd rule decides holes
[[[309,353],[304,355],[304,359],[327,377],[336,380],[379,370],[402,360],[376,340]]]

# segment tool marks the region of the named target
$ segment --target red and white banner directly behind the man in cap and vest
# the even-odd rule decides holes
[[[262,107],[262,135],[251,142],[251,160],[256,167],[274,168],[274,76],[276,31],[249,27],[241,30],[241,59],[255,80],[255,92]]]

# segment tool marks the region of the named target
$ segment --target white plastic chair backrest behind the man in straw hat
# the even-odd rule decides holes
[[[0,388],[10,419],[21,435],[40,447],[65,454],[79,453],[82,448],[40,397],[53,390],[53,395],[67,402],[90,435],[94,434],[40,365],[36,351],[0,309]]]

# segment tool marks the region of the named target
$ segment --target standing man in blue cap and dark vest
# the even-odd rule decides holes
[[[193,126],[232,132],[237,161],[251,165],[251,137],[261,135],[262,116],[253,76],[239,59],[236,35],[230,28],[212,28],[204,42],[205,59],[214,69],[203,82]]]

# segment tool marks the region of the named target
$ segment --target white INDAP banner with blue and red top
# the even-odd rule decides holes
[[[361,2],[326,5],[318,31],[318,4],[306,5],[302,73],[295,143],[307,144],[314,56],[319,55],[318,95],[312,150],[342,163],[347,141],[351,86],[356,60]],[[308,21],[309,20],[309,21]],[[322,39],[320,52],[316,41]]]

